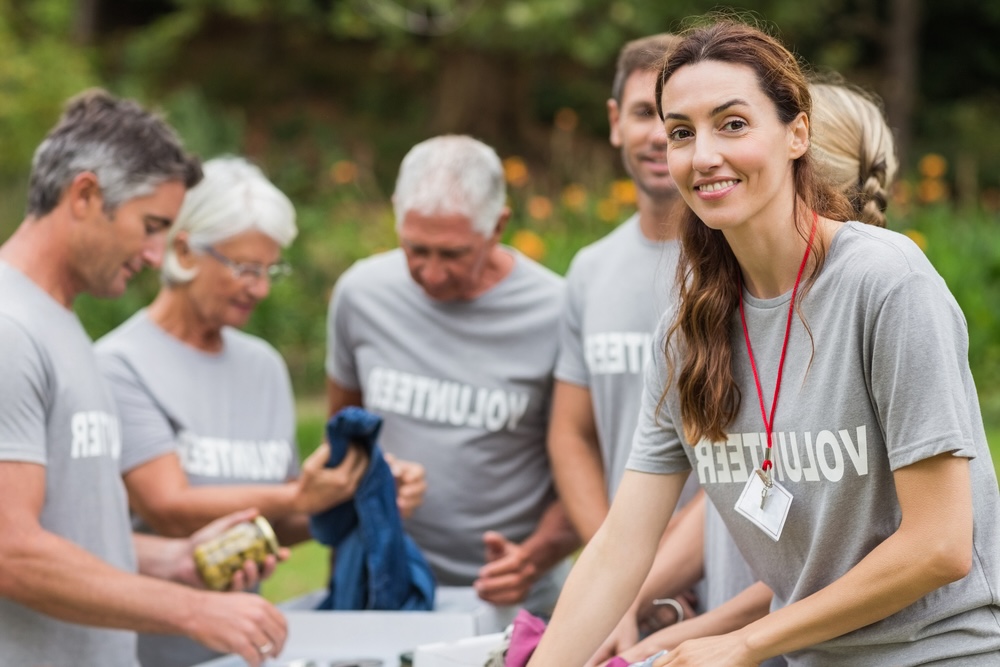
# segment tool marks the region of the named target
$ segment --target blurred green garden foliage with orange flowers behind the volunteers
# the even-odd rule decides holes
[[[897,0],[898,1],[898,0]],[[942,155],[943,196],[893,205],[915,230],[970,325],[970,360],[987,419],[1000,424],[1000,4],[909,0],[921,16],[912,155]],[[99,7],[88,18],[83,7]],[[296,203],[296,272],[250,329],[285,355],[297,390],[323,387],[325,309],[355,259],[393,247],[388,196],[403,153],[433,133],[464,131],[523,158],[508,240],[531,230],[563,271],[582,245],[624,219],[622,177],[606,141],[604,99],[627,39],[677,29],[715,2],[676,0],[0,0],[0,238],[21,219],[34,147],[63,101],[101,85],[161,108],[203,156],[259,163]],[[876,88],[884,77],[888,0],[751,0],[814,69]],[[423,17],[421,19],[421,17]],[[414,21],[430,34],[417,34]],[[419,26],[417,26],[419,27]],[[560,125],[569,110],[572,123]],[[353,169],[338,179],[336,165]],[[970,187],[969,184],[972,184]],[[564,188],[585,197],[564,203]],[[544,200],[550,212],[538,215]],[[609,209],[609,206],[611,209]],[[532,211],[535,211],[535,215]],[[82,299],[96,337],[145,305],[156,277],[118,301]]]

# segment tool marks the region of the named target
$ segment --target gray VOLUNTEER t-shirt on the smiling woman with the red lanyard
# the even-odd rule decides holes
[[[790,297],[744,293],[768,406]],[[969,575],[886,619],[786,657],[791,665],[996,664],[1000,494],[958,304],[905,236],[847,223],[801,305],[812,341],[795,318],[775,414],[776,478],[793,496],[780,541],[733,510],[765,442],[738,313],[731,340],[743,400],[728,439],[685,442],[675,428],[675,389],[656,414],[666,377],[658,354],[649,367],[629,468],[692,468],[779,608],[830,584],[896,530],[893,471],[947,452],[968,458],[976,499]]]

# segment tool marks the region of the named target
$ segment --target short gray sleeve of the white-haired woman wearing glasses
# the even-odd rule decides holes
[[[118,406],[122,474],[177,451],[177,429],[128,362],[108,352],[98,352],[97,361]]]

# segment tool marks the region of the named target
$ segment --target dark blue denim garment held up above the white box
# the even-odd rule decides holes
[[[309,519],[313,537],[334,550],[329,591],[318,609],[434,608],[434,575],[403,531],[396,482],[378,446],[381,427],[381,417],[357,407],[327,422],[328,466],[339,465],[352,444],[364,447],[370,462],[352,500]]]

